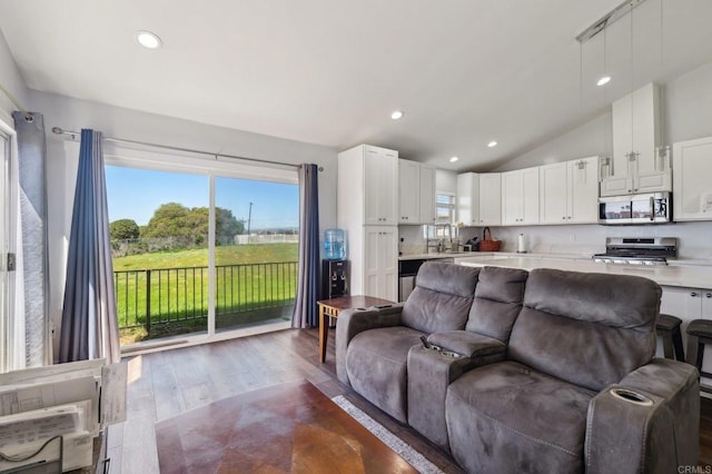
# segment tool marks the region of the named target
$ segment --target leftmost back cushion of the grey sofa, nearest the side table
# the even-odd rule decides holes
[[[479,268],[428,261],[403,306],[400,323],[423,333],[463,329],[477,285]]]

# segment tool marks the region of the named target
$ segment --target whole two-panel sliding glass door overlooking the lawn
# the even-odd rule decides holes
[[[296,171],[275,181],[241,178],[235,166],[158,168],[107,166],[121,344],[286,327],[297,277]]]

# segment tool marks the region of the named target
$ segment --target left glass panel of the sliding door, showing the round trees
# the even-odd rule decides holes
[[[207,334],[209,177],[107,166],[121,344]]]

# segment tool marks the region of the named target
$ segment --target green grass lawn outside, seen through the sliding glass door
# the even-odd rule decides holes
[[[253,244],[216,249],[216,325],[239,324],[266,308],[294,302],[297,244]],[[207,328],[208,250],[189,249],[131,255],[113,259],[122,344]],[[149,271],[150,270],[150,275]],[[150,278],[150,285],[148,279]],[[148,298],[150,290],[150,299]],[[250,316],[253,315],[253,316]]]

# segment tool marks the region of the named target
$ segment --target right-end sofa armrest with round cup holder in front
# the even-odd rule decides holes
[[[699,433],[696,368],[653,359],[591,401],[586,473],[682,472],[698,465]]]

